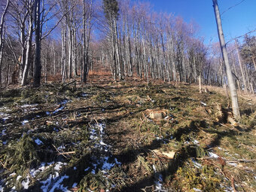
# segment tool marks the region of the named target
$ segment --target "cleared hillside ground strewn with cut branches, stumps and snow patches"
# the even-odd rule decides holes
[[[0,191],[255,191],[256,101],[155,81],[0,93]]]

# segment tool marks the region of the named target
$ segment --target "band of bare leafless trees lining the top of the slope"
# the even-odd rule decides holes
[[[219,43],[204,44],[196,23],[156,13],[147,2],[2,0],[0,17],[3,87],[71,79],[86,84],[90,71],[103,69],[113,81],[227,84]],[[227,50],[237,89],[255,93],[255,36],[232,39]]]

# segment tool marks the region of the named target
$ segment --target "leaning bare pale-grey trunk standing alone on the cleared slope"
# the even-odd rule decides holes
[[[239,120],[240,119],[240,112],[239,112],[239,105],[238,105],[238,96],[237,96],[237,93],[236,93],[236,85],[235,85],[235,82],[233,81],[233,76],[232,76],[232,72],[231,72],[230,63],[228,61],[227,47],[226,47],[224,34],[223,34],[223,30],[222,30],[221,15],[220,15],[220,11],[218,9],[218,1],[217,0],[212,0],[212,2],[213,2],[213,8],[214,8],[214,11],[215,11],[215,19],[216,19],[217,28],[218,28],[218,38],[220,40],[222,57],[223,57],[223,60],[224,60],[224,65],[225,65],[226,74],[227,74],[228,87],[230,88],[230,95],[231,95],[232,108],[233,108],[233,116],[237,120]]]

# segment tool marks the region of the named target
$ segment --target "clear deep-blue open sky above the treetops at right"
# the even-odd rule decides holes
[[[163,11],[181,16],[185,21],[191,20],[200,26],[200,36],[209,41],[218,41],[212,0],[144,0],[151,2],[154,11]],[[220,12],[227,10],[242,0],[218,0]],[[256,29],[256,0],[245,0],[222,16],[222,25],[226,41]]]

